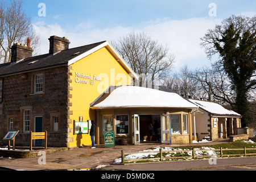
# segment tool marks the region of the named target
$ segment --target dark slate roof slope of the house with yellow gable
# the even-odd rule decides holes
[[[60,51],[59,53],[55,53],[54,55],[50,55],[49,53],[47,53],[44,55],[29,57],[27,59],[17,61],[16,63],[0,64],[0,76],[29,72],[36,69],[68,65],[69,60],[105,42],[106,41],[67,49],[64,51]]]

